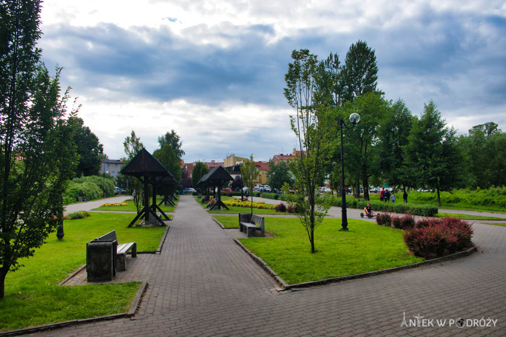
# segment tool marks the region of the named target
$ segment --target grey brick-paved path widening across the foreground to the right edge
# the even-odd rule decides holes
[[[46,335],[504,335],[506,227],[475,224],[468,258],[387,275],[277,292],[267,274],[191,197],[183,197],[160,255],[130,265],[149,287],[133,319]],[[142,261],[141,261],[142,259]],[[134,261],[131,261],[134,262]],[[125,276],[128,274],[125,273]],[[401,326],[406,319],[498,319],[496,327]],[[428,324],[428,323],[427,323]]]

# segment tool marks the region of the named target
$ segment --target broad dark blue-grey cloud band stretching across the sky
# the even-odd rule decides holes
[[[44,33],[46,63],[64,66],[65,84],[95,100],[286,108],[282,92],[292,50],[308,48],[320,59],[333,52],[344,63],[359,39],[376,52],[379,88],[387,98],[403,98],[413,113],[431,99],[450,117],[470,106],[497,111],[506,100],[506,20],[498,16],[440,13],[427,6],[417,17],[385,27],[294,29],[274,42],[272,25],[230,23],[200,24],[182,35],[170,26],[127,30],[113,24],[47,26]]]

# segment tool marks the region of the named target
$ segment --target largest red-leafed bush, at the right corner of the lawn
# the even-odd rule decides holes
[[[457,218],[423,219],[403,234],[409,250],[426,259],[461,250],[471,243],[472,236],[471,225]]]

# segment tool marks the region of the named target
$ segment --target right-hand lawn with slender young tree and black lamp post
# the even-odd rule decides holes
[[[341,219],[324,219],[315,230],[315,254],[296,218],[267,217],[265,229],[276,237],[239,240],[289,284],[424,261],[408,254],[402,230],[361,220],[348,219],[348,223],[350,230],[342,232],[338,231]]]

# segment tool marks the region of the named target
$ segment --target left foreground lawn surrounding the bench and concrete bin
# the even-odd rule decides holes
[[[138,251],[156,250],[166,227],[127,228],[131,220],[132,214],[122,213],[65,220],[63,240],[50,234],[34,256],[19,261],[24,267],[7,274],[6,296],[0,300],[0,331],[128,311],[140,282],[57,284],[86,263],[88,241],[113,229],[119,243],[136,242]]]

